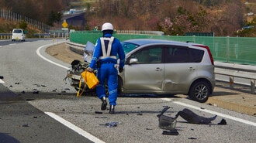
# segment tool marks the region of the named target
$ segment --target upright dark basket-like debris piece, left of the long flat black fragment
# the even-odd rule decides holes
[[[165,129],[165,130],[172,130],[175,129],[176,123],[177,123],[177,115],[175,117],[168,117],[164,115],[164,112],[167,111],[170,107],[164,107],[164,109],[161,111],[161,114],[157,114],[158,121],[159,121],[159,128]]]

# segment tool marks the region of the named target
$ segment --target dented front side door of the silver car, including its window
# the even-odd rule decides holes
[[[161,46],[150,46],[137,51],[129,60],[137,62],[125,65],[124,90],[137,93],[162,90],[164,65]]]

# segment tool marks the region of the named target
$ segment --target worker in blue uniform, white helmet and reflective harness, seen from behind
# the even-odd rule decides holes
[[[97,39],[92,56],[92,62],[87,68],[92,72],[97,69],[99,85],[96,87],[96,94],[102,100],[101,110],[105,111],[107,106],[105,82],[109,87],[109,113],[115,113],[117,87],[118,87],[118,70],[123,72],[125,53],[119,39],[112,36],[113,26],[106,22],[102,25],[103,36]],[[119,65],[117,60],[119,58]]]

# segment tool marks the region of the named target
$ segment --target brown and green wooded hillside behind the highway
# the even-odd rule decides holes
[[[246,3],[247,2],[247,3]],[[186,32],[214,32],[215,36],[255,36],[256,19],[247,13],[256,1],[243,0],[0,0],[0,8],[12,10],[31,19],[56,26],[64,11],[85,9],[87,25],[92,30],[103,22],[115,29],[163,31],[165,35],[184,36]],[[0,19],[0,32],[12,29]],[[8,23],[8,22],[7,22]],[[16,24],[16,27],[20,23]],[[250,26],[250,29],[243,29]],[[72,29],[79,27],[70,26]]]

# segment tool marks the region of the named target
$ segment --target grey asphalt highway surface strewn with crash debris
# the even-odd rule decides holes
[[[182,96],[122,95],[116,114],[100,111],[95,95],[76,97],[63,81],[69,64],[45,53],[60,40],[0,47],[0,142],[255,142],[256,118]],[[216,92],[218,88],[216,88]],[[219,94],[229,94],[219,93]],[[162,134],[157,114],[174,117],[188,108],[211,124],[178,117],[178,135]],[[219,124],[224,119],[227,124]],[[107,124],[115,124],[113,127]]]

